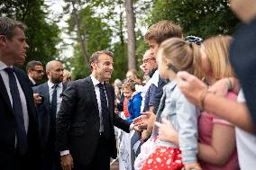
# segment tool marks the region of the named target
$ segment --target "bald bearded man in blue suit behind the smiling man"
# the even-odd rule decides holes
[[[59,61],[52,60],[46,65],[48,82],[33,87],[34,94],[41,94],[44,101],[38,106],[37,113],[40,127],[42,148],[42,170],[61,170],[59,152],[55,150],[56,114],[66,89],[63,80],[63,67]]]

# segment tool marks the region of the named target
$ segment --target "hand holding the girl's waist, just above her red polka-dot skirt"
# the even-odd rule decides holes
[[[155,125],[159,128],[160,140],[169,141],[178,146],[178,132],[174,130],[171,122],[162,119],[162,123],[156,121]]]

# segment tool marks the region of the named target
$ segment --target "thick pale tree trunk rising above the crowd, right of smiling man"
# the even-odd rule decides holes
[[[135,58],[135,17],[133,13],[133,0],[125,0],[125,12],[128,33],[128,68],[136,70]]]

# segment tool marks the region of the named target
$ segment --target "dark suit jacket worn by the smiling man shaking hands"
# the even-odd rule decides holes
[[[105,83],[109,111],[110,157],[116,157],[114,126],[129,132],[130,123],[114,113],[114,87]],[[100,119],[96,92],[90,76],[70,82],[63,93],[62,103],[56,120],[57,149],[69,150],[81,165],[87,165],[96,153],[100,137]]]

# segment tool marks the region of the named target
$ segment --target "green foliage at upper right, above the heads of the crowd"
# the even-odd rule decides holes
[[[171,20],[181,25],[186,35],[206,38],[216,34],[232,34],[238,20],[226,0],[157,0],[148,23]]]

